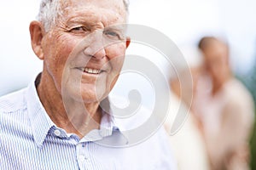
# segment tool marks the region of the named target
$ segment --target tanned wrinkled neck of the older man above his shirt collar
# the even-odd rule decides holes
[[[55,82],[44,77],[47,75],[42,73],[37,88],[38,96],[57,127],[65,129],[67,133],[75,133],[79,138],[100,127],[102,111],[99,103],[84,104],[74,99],[63,101],[61,93],[55,88]]]

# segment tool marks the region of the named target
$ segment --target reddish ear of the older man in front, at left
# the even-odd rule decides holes
[[[42,48],[42,40],[44,37],[44,29],[40,22],[34,20],[29,26],[31,44],[34,53],[39,59],[44,59],[44,51]]]

